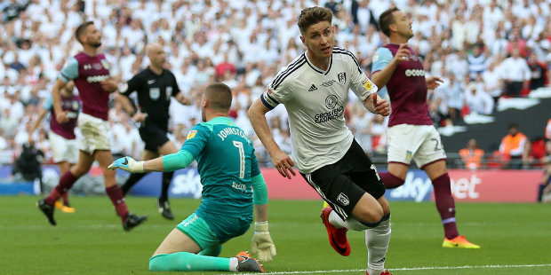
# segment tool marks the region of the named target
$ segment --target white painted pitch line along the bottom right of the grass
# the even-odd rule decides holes
[[[551,263],[544,264],[489,264],[489,265],[463,265],[463,266],[423,266],[423,267],[403,267],[391,268],[389,271],[427,271],[427,270],[461,270],[461,269],[484,269],[484,268],[521,268],[521,267],[544,267],[551,266]],[[277,271],[266,272],[265,274],[315,274],[315,273],[348,273],[365,271],[359,270],[332,270],[332,271]],[[234,273],[226,273],[234,274]],[[253,275],[257,273],[241,273],[243,275]]]

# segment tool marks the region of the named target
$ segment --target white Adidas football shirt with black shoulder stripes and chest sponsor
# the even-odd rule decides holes
[[[260,96],[269,109],[279,104],[287,109],[291,159],[301,173],[339,161],[352,145],[354,136],[344,118],[349,89],[363,101],[377,86],[363,74],[354,54],[334,47],[326,71],[304,52],[283,67]]]

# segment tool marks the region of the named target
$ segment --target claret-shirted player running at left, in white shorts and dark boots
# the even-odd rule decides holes
[[[53,188],[48,197],[36,202],[36,206],[43,211],[50,224],[55,225],[54,202],[67,193],[79,177],[88,173],[93,161],[98,161],[103,172],[105,191],[122,219],[124,230],[129,231],[148,217],[128,212],[123,193],[116,185],[115,171],[108,169],[108,165],[113,162],[108,139],[108,101],[109,93],[116,91],[117,85],[109,76],[108,61],[98,52],[101,33],[93,22],[87,21],[77,27],[75,35],[84,51],[69,59],[61,70],[52,88],[52,103],[57,122],[69,122],[68,111],[63,111],[61,107],[60,89],[73,80],[83,103],[82,113],[78,116],[78,128],[83,135],[78,162],[60,178],[60,184]]]

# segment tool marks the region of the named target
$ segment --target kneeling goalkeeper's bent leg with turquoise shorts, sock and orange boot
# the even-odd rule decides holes
[[[249,255],[222,258],[202,255],[220,246],[220,239],[203,218],[193,213],[163,240],[149,259],[150,271],[262,271]]]

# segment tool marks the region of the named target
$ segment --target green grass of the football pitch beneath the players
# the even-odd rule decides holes
[[[56,211],[58,225],[54,227],[35,207],[38,197],[0,197],[1,274],[152,274],[148,271],[149,256],[199,205],[199,200],[172,200],[177,221],[171,222],[156,212],[153,198],[129,197],[129,208],[148,215],[149,220],[132,232],[124,232],[107,197],[71,199],[76,214]],[[277,255],[273,262],[264,264],[266,271],[365,274],[363,233],[349,232],[352,253],[338,255],[320,222],[321,204],[270,201],[270,232]],[[393,202],[387,268],[395,275],[551,273],[549,205],[471,203],[457,207],[459,232],[481,249],[441,248],[442,225],[434,203]],[[228,241],[221,256],[248,250],[251,238],[249,231]],[[186,274],[220,273],[228,272]]]

